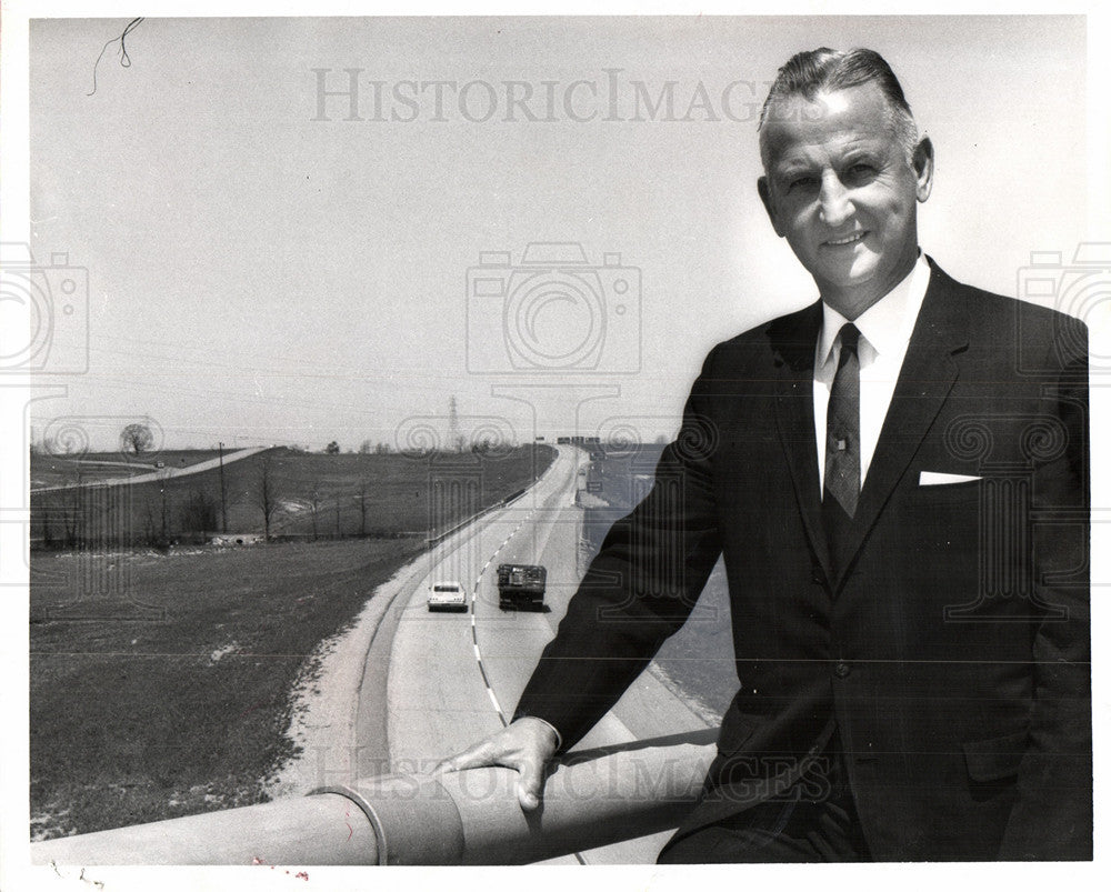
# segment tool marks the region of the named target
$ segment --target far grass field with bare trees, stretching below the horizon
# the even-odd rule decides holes
[[[127,487],[32,492],[31,542],[93,549],[203,542],[224,525],[299,538],[424,534],[528,485],[553,454],[544,445],[487,455],[271,449],[227,464],[222,488],[213,468]],[[43,467],[51,462],[34,457],[32,479],[48,477]]]

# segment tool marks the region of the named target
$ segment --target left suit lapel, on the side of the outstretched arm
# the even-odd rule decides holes
[[[799,513],[818,561],[831,579],[829,544],[822,527],[818,444],[814,440],[814,351],[822,323],[822,304],[775,320],[768,329],[778,372],[775,421]]]

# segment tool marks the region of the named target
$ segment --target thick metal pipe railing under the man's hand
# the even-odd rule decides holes
[[[517,772],[389,774],[298,799],[31,845],[38,864],[524,864],[675,826],[715,750],[630,744],[558,764],[521,811]],[[690,741],[697,742],[690,742]]]

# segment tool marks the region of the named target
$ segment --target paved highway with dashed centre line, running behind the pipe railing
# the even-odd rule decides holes
[[[575,491],[584,485],[580,472],[587,462],[581,450],[560,447],[552,467],[526,495],[438,545],[411,574],[379,624],[361,683],[357,739],[368,773],[381,771],[383,754],[392,770],[423,773],[512,716],[579,582],[582,509],[575,505]],[[499,609],[497,568],[507,562],[548,568],[549,612]],[[466,585],[471,601],[467,613],[428,612],[428,587],[447,580]],[[645,672],[575,749],[705,728]],[[560,862],[652,863],[668,835]]]

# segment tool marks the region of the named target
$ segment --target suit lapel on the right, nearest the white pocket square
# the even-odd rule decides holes
[[[891,404],[860,493],[844,570],[937,418],[958,375],[954,354],[968,345],[968,309],[957,283],[930,261],[930,284],[911,334]],[[814,460],[817,462],[817,459]],[[834,591],[840,589],[838,579]]]

